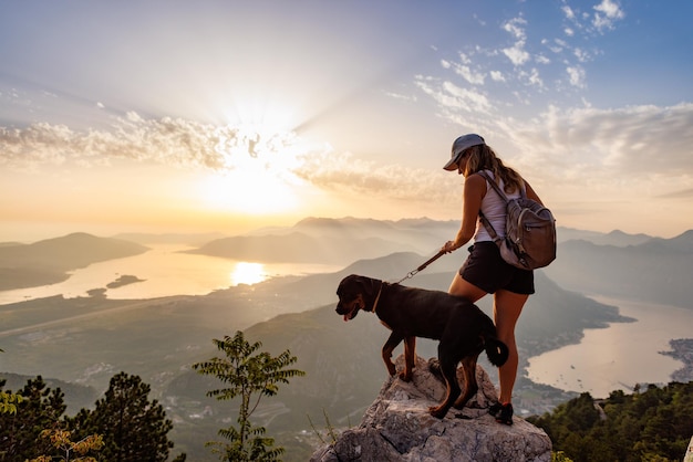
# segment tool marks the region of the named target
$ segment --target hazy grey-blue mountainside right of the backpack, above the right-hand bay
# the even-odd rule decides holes
[[[571,291],[693,308],[693,231],[628,246],[568,241],[545,271]]]

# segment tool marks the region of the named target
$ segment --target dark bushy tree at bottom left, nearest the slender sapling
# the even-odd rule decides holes
[[[113,376],[95,409],[82,409],[70,420],[71,427],[77,438],[102,434],[104,460],[164,462],[174,445],[167,438],[173,424],[162,405],[149,401],[149,391],[151,387],[137,376]]]

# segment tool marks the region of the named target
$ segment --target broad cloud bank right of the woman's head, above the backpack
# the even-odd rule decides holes
[[[506,126],[507,130],[507,126]],[[507,130],[527,168],[556,181],[637,185],[693,181],[693,104],[619,109],[549,107]],[[666,180],[664,180],[666,179]]]

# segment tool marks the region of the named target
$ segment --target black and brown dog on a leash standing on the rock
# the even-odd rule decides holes
[[[508,347],[496,337],[496,326],[490,317],[465,298],[441,291],[406,287],[372,277],[352,274],[342,280],[337,290],[337,313],[344,321],[353,319],[360,309],[375,313],[385,327],[392,330],[383,345],[383,360],[391,376],[396,374],[392,351],[404,340],[404,371],[400,378],[412,379],[416,337],[441,340],[438,363],[447,385],[447,395],[438,406],[428,411],[442,419],[451,407],[462,409],[478,390],[476,361],[486,350],[494,366],[508,359]],[[457,365],[462,361],[465,392],[457,384]]]

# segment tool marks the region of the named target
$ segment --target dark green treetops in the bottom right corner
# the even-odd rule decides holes
[[[596,402],[582,393],[529,420],[575,462],[681,461],[693,435],[693,382],[612,391]]]

